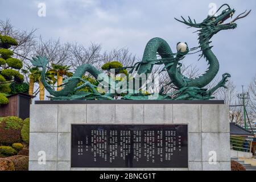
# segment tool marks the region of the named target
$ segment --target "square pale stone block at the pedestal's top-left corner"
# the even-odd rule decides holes
[[[57,105],[30,105],[30,132],[57,132]]]

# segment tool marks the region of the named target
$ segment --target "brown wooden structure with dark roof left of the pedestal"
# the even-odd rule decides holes
[[[9,104],[0,106],[0,117],[16,116],[22,119],[30,117],[31,98],[26,93],[17,93],[8,96]]]

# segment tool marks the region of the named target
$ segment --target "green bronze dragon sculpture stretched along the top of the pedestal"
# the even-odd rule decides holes
[[[186,24],[189,27],[199,28],[196,32],[199,32],[199,47],[195,47],[189,50],[188,46],[186,46],[185,51],[177,50],[177,53],[173,53],[169,44],[161,39],[161,38],[153,38],[151,39],[144,49],[144,54],[141,62],[138,62],[131,68],[130,73],[137,73],[137,75],[142,74],[150,74],[152,72],[152,68],[154,65],[164,65],[164,71],[167,71],[168,76],[170,77],[171,83],[176,86],[176,91],[169,94],[163,94],[163,88],[157,94],[155,99],[157,100],[209,100],[212,99],[212,94],[221,87],[226,88],[225,83],[228,81],[230,77],[229,73],[224,73],[222,75],[222,80],[214,86],[212,89],[205,89],[214,77],[216,77],[220,64],[218,62],[217,57],[212,52],[212,46],[210,46],[210,39],[213,35],[217,34],[221,30],[229,30],[237,27],[237,24],[234,23],[236,20],[244,18],[248,13],[246,11],[234,18],[230,23],[224,23],[228,18],[232,18],[235,13],[234,9],[231,9],[229,5],[222,5],[217,11],[220,11],[223,7],[226,7],[220,15],[217,16],[207,16],[206,19],[201,23],[196,23],[195,19],[192,21],[188,16],[188,20],[185,20],[183,16],[181,18],[183,20],[178,20],[181,23]],[[179,43],[178,43],[179,44]],[[178,45],[177,44],[177,45]],[[185,43],[187,45],[187,43]],[[190,51],[195,51],[196,49],[200,49],[200,58],[204,57],[209,64],[209,68],[207,71],[198,78],[187,78],[185,77],[181,71],[181,63],[180,60],[184,59],[185,55],[187,55]],[[199,51],[197,51],[199,52]],[[157,59],[157,55],[160,55],[161,59]],[[124,100],[147,100],[149,97],[155,93],[151,94],[143,94],[141,92],[141,88],[139,89],[128,89],[128,93],[123,94],[117,92],[110,92],[115,90],[116,88],[120,88],[120,85],[123,82],[126,82],[126,85],[129,85],[127,79],[124,81],[115,81],[112,80],[108,75],[105,75],[95,67],[90,64],[81,65],[76,69],[76,72],[73,74],[71,78],[68,78],[64,82],[64,87],[60,91],[55,91],[52,89],[52,86],[49,85],[45,78],[46,66],[48,64],[48,60],[46,57],[36,56],[31,61],[32,65],[35,67],[42,67],[42,82],[48,92],[52,95],[50,98],[52,100],[113,100],[114,96],[119,95],[122,96]],[[94,78],[96,78],[99,82],[102,80],[108,80],[109,86],[107,91],[102,94],[98,92],[95,85],[90,84],[90,82],[86,80],[82,80],[82,76],[85,73],[90,73]],[[135,76],[134,79],[138,79],[139,77]],[[129,80],[129,79],[128,79]],[[84,82],[84,84],[77,86],[79,82]],[[142,85],[146,79],[142,80]],[[88,86],[93,90],[93,93],[88,92],[77,92],[77,90]],[[127,89],[125,89],[127,91]]]

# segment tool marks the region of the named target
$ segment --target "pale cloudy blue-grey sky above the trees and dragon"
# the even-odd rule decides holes
[[[41,4],[46,5],[45,16]],[[9,0],[0,1],[0,19],[10,19],[20,30],[38,28],[36,36],[60,39],[89,45],[101,44],[104,50],[129,48],[142,58],[148,40],[165,39],[176,52],[177,42],[187,42],[190,48],[198,46],[196,29],[187,28],[174,18],[180,15],[205,19],[212,7],[224,3],[236,9],[236,15],[252,10],[244,19],[237,20],[235,30],[221,31],[212,39],[212,51],[220,61],[220,71],[230,73],[238,88],[249,85],[256,75],[256,1],[255,0]],[[42,15],[42,14],[40,14]],[[43,14],[44,15],[44,14]],[[230,21],[230,20],[229,20]],[[198,55],[187,55],[186,64],[195,64],[204,73],[207,63]]]

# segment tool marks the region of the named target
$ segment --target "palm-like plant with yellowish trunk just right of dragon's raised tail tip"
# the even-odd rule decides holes
[[[69,72],[71,66],[60,65],[60,64],[52,64],[52,69],[49,69],[49,73],[54,76],[57,76],[57,91],[61,90],[62,87],[60,85],[63,84],[63,77],[71,77],[73,75],[72,72]]]

